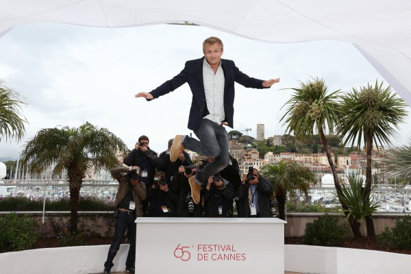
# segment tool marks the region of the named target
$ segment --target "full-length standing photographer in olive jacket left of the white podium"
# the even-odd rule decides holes
[[[136,261],[136,216],[142,216],[142,201],[146,199],[146,186],[140,181],[140,168],[119,166],[111,170],[112,176],[119,181],[114,216],[114,239],[108,249],[107,260],[104,263],[104,274],[110,274],[114,266],[113,260],[121,245],[125,231],[129,236],[129,252],[125,261],[125,272],[134,273]]]

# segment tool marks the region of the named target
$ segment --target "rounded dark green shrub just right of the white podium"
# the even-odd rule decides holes
[[[338,217],[324,214],[312,223],[307,223],[303,235],[306,245],[338,247],[347,239],[347,225],[338,225]]]

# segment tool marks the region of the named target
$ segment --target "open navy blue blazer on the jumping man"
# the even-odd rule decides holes
[[[192,92],[192,101],[190,108],[190,116],[188,117],[188,129],[195,130],[199,127],[201,119],[208,114],[206,103],[206,92],[204,91],[203,81],[203,58],[190,60],[186,62],[181,73],[173,77],[173,79],[164,82],[158,88],[151,90],[150,94],[156,99],[162,95],[179,88],[185,83],[188,83]],[[224,71],[224,110],[225,120],[229,127],[234,127],[234,82],[245,86],[246,88],[264,88],[262,82],[264,80],[249,77],[242,73],[232,60],[221,59],[221,66]]]

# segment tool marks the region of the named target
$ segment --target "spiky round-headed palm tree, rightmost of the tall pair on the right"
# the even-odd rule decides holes
[[[390,137],[395,136],[395,128],[403,123],[406,117],[406,107],[403,99],[398,97],[391,87],[382,87],[383,82],[375,86],[367,84],[360,90],[352,88],[342,97],[341,108],[344,113],[342,123],[338,128],[341,137],[345,138],[344,145],[351,141],[351,146],[357,142],[360,147],[362,138],[366,147],[366,184],[364,197],[369,203],[372,184],[372,153],[373,142],[376,145],[390,144]],[[375,229],[371,214],[366,216],[367,236],[374,237]]]

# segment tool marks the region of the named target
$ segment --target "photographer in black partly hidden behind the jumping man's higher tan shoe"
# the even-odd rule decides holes
[[[160,156],[158,156],[158,166],[157,169],[158,171],[164,171],[166,173],[166,179],[168,182],[171,182],[171,179],[173,179],[173,175],[177,173],[178,168],[180,166],[189,166],[192,164],[192,161],[190,159],[190,155],[186,153],[186,151],[182,151],[179,153],[178,158],[175,162],[171,162],[170,160],[170,148],[171,145],[173,145],[174,139],[169,140],[169,147],[166,151],[163,151]]]

